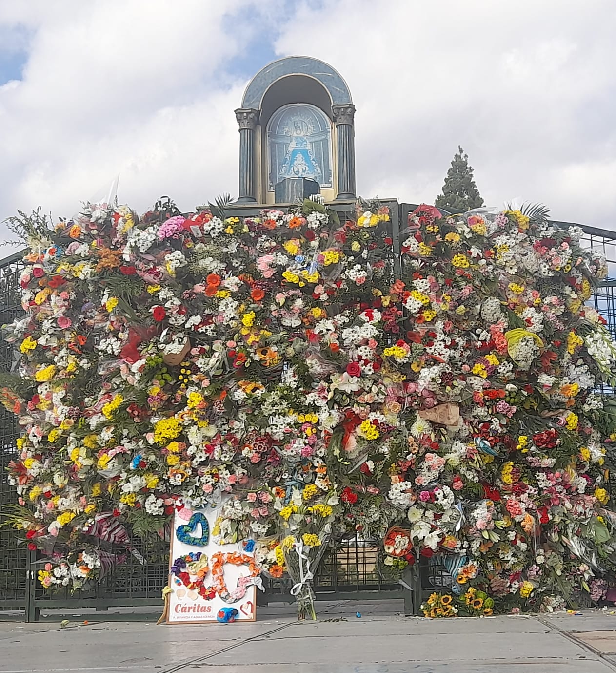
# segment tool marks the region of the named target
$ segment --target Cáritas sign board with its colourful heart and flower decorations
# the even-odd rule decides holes
[[[216,585],[212,577],[214,565],[220,567],[220,561],[232,557],[237,560],[237,555],[244,555],[245,559],[253,558],[253,554],[245,551],[239,542],[224,545],[214,542],[212,530],[219,511],[220,507],[194,510],[185,507],[175,512],[169,555],[171,594],[167,608],[168,624],[216,623],[219,611],[224,608],[237,610],[234,621],[254,622],[257,618],[255,585],[247,586],[245,592],[237,591],[240,577],[247,578],[251,575],[248,563],[235,565],[230,562],[222,565],[222,576],[228,592],[230,594],[237,592],[243,596],[233,600],[232,595],[227,595],[224,600],[218,592],[210,592],[208,595],[208,590]],[[179,565],[178,559],[180,559]],[[181,567],[183,563],[185,566]]]

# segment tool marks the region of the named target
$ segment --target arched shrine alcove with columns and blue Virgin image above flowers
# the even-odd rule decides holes
[[[355,199],[355,106],[333,67],[301,56],[274,61],[251,79],[235,114],[238,203],[292,203],[315,193]]]

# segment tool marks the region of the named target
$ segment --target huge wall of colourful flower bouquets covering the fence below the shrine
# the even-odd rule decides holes
[[[255,540],[304,614],[326,544],[353,532],[384,575],[438,563],[427,616],[605,596],[616,425],[597,389],[616,347],[584,304],[605,260],[578,227],[421,206],[393,232],[376,203],[339,221],[312,201],[14,222],[12,521],[49,557],[44,586],[88,586],[176,507],[223,503],[210,534]],[[221,561],[173,570],[212,595]]]

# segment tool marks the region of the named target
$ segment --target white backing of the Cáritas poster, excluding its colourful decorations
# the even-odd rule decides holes
[[[211,587],[214,583],[212,580],[212,557],[218,553],[231,554],[239,553],[253,557],[252,553],[248,553],[239,542],[237,544],[216,544],[212,539],[212,530],[220,508],[216,509],[193,509],[185,508],[181,511],[176,511],[173,518],[173,530],[171,532],[171,548],[169,555],[169,587],[171,587],[171,594],[169,594],[169,602],[167,609],[167,623],[168,624],[197,624],[197,623],[217,623],[217,616],[219,610],[222,608],[235,608],[237,614],[234,617],[236,622],[254,622],[257,618],[257,588],[254,585],[248,586],[246,593],[242,598],[235,602],[226,602],[216,594],[214,598],[203,598],[198,588],[187,588],[185,582],[172,572],[173,564],[176,559],[187,557],[189,554],[202,553],[207,555],[208,571],[203,577],[196,577],[190,575],[190,580],[201,580],[206,587]],[[193,519],[191,526],[191,517],[197,514]],[[200,540],[202,536],[202,526],[197,524],[197,520],[202,515],[208,522],[209,535],[206,544],[186,544],[178,539],[178,529],[182,526],[187,526],[184,529],[184,535],[191,534],[195,540]],[[191,529],[191,530],[189,530]],[[216,558],[216,557],[214,557]],[[203,559],[200,559],[203,561]],[[191,566],[188,569],[193,569]],[[238,579],[250,575],[249,567],[247,565],[233,565],[226,563],[224,569],[224,582],[230,592],[238,586]],[[192,586],[191,584],[188,585]]]

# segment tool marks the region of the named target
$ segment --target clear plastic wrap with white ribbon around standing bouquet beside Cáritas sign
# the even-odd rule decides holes
[[[306,537],[306,535],[302,537],[288,536],[283,540],[282,548],[287,572],[294,582],[291,595],[294,596],[298,606],[298,619],[300,621],[304,619],[316,621],[312,580],[326,549],[329,536],[318,537],[319,544],[316,546],[306,544],[303,539]],[[317,538],[317,536],[314,535],[314,538]],[[316,540],[308,541],[316,542]]]

